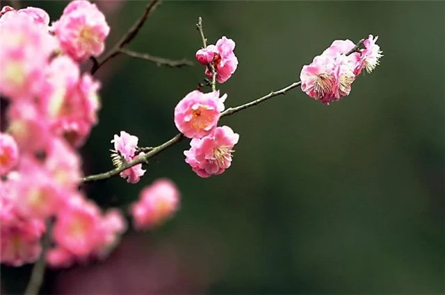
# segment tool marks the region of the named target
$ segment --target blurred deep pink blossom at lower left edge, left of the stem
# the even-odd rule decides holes
[[[15,267],[35,262],[42,251],[44,223],[21,214],[8,194],[9,180],[0,181],[0,262]]]

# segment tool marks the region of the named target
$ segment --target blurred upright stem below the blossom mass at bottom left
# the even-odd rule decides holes
[[[40,253],[40,258],[34,264],[33,270],[31,271],[31,278],[26,286],[24,295],[38,295],[40,287],[42,287],[44,271],[47,266],[46,255],[51,246],[51,231],[52,223],[48,221],[47,231],[42,238],[42,253]]]

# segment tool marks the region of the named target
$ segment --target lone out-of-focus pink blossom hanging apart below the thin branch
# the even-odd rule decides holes
[[[159,226],[172,217],[179,208],[179,190],[171,180],[161,178],[145,187],[139,201],[130,208],[135,228],[147,229]]]

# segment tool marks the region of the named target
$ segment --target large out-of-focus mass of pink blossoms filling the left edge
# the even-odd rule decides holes
[[[40,8],[5,6],[0,16],[0,261],[37,260],[49,224],[51,266],[103,258],[127,224],[122,212],[102,212],[79,190],[77,149],[100,108],[100,83],[79,62],[104,50],[105,17],[84,0],[69,3],[51,26]]]

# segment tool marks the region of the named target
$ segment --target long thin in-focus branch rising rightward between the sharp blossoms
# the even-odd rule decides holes
[[[198,22],[198,24],[199,24],[199,22]],[[205,38],[203,40],[205,40]],[[359,47],[362,45],[363,41],[364,41],[363,39],[360,40],[355,45],[355,47],[353,49],[351,49],[348,53],[346,53],[346,56],[350,55],[353,52],[358,51]],[[267,101],[268,99],[271,99],[275,96],[284,95],[289,90],[293,90],[294,88],[299,87],[300,85],[301,85],[301,81],[294,82],[291,85],[287,85],[286,87],[284,87],[280,90],[275,90],[275,91],[270,92],[269,94],[261,96],[259,99],[255,99],[254,101],[250,101],[248,103],[245,103],[241,106],[237,106],[235,108],[228,108],[227,110],[225,110],[224,112],[221,113],[220,117],[230,116],[230,115],[233,115],[236,112],[239,112],[241,110],[245,110],[252,106],[257,106],[259,103],[263,103],[264,101]],[[142,156],[136,158],[135,160],[132,160],[131,162],[125,162],[122,166],[115,168],[111,171],[107,171],[107,172],[104,172],[101,174],[86,176],[86,177],[82,178],[82,181],[87,182],[87,181],[102,180],[102,179],[110,178],[111,176],[118,175],[118,174],[120,174],[120,172],[124,171],[125,169],[129,169],[130,167],[133,167],[134,165],[138,165],[143,162],[147,162],[147,160],[149,158],[152,158],[152,156],[154,156],[158,153],[161,153],[161,151],[167,149],[168,147],[172,146],[173,144],[176,144],[177,142],[180,142],[183,139],[184,139],[184,136],[181,133],[178,133],[171,140],[168,140],[168,142],[164,142],[160,146],[156,146],[156,147],[152,148],[145,155],[142,155]]]

